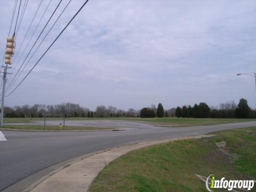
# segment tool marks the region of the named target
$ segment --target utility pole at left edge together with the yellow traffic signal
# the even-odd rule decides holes
[[[7,68],[8,65],[11,65],[15,49],[15,41],[14,41],[14,34],[11,37],[7,37],[7,44],[6,44],[6,51],[5,51],[5,64],[6,66],[2,66],[4,68],[4,75],[3,75],[3,87],[2,87],[2,100],[1,100],[1,115],[0,115],[0,126],[3,126],[4,122],[4,94],[5,94],[5,84],[6,84],[6,76],[7,76]]]

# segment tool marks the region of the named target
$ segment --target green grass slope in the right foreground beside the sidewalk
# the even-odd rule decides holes
[[[195,174],[255,180],[256,127],[214,135],[131,151],[106,166],[89,191],[207,191]],[[219,141],[227,142],[224,150],[214,145]]]

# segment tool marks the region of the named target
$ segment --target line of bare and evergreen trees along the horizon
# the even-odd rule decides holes
[[[182,106],[164,110],[162,103],[140,110],[130,108],[129,110],[117,109],[116,107],[103,105],[98,106],[95,111],[81,107],[74,103],[61,103],[59,105],[33,106],[23,105],[15,107],[4,107],[4,117],[194,117],[194,118],[256,118],[255,110],[252,110],[246,99],[241,99],[236,105],[234,101],[220,103],[219,107],[209,107],[205,102],[194,106]]]

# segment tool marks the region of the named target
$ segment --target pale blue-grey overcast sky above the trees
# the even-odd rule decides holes
[[[12,76],[8,75],[9,83],[59,2],[51,2],[17,63],[49,1],[43,0],[20,52],[15,53],[18,56],[12,68],[16,67],[9,69],[13,71]],[[62,1],[38,42],[68,1]],[[17,34],[16,52],[39,2],[28,1]],[[71,1],[14,85],[83,2]],[[1,53],[5,50],[13,5],[14,0],[1,1]],[[220,102],[238,103],[245,98],[255,108],[253,77],[236,76],[256,72],[255,18],[255,0],[90,0],[33,73],[5,99],[5,105],[73,102],[94,110],[98,105],[140,109],[162,102],[169,109],[199,102],[218,106]]]

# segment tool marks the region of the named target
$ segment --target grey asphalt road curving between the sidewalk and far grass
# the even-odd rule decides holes
[[[10,190],[7,187],[54,164],[94,151],[134,142],[187,137],[219,130],[256,126],[256,121],[172,128],[143,123],[134,124],[134,122],[128,124],[130,125],[122,126],[130,127],[126,131],[2,131],[7,141],[0,141],[0,190],[15,191],[14,188]],[[47,174],[47,171],[44,174]],[[26,182],[23,182],[22,187],[28,187]]]

